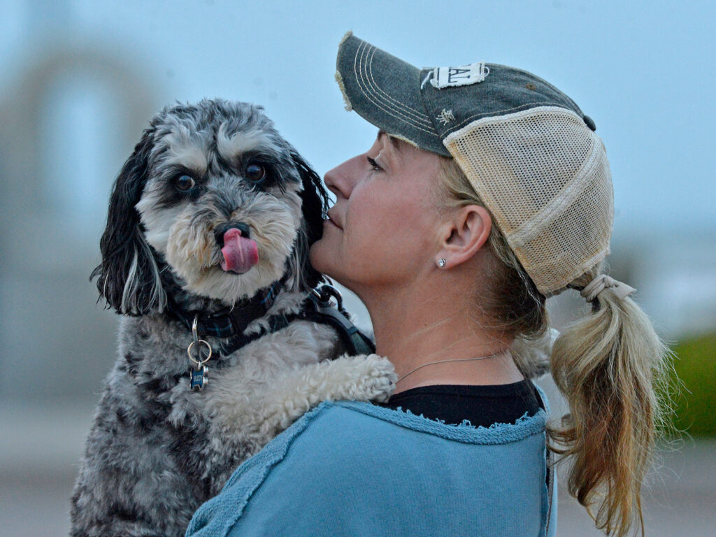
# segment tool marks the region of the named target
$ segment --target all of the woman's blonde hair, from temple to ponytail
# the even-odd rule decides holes
[[[440,179],[444,207],[485,206],[455,160],[441,157]],[[478,297],[482,315],[491,314],[493,326],[513,337],[540,336],[548,328],[545,297],[494,225],[489,247],[498,266],[485,274],[493,292],[487,301]],[[583,289],[600,271],[595,266],[569,287]],[[569,493],[608,535],[623,537],[634,528],[644,533],[641,488],[664,417],[657,392],[667,392],[655,387],[666,378],[668,357],[639,306],[611,289],[554,344],[551,372],[570,414],[548,426],[549,448],[571,455]]]

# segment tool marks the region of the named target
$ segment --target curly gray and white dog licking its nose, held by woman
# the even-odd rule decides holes
[[[261,107],[204,100],[151,120],[116,180],[93,272],[122,319],[72,536],[183,535],[310,407],[390,395],[390,362],[339,357],[332,326],[303,315],[325,208],[319,177]]]

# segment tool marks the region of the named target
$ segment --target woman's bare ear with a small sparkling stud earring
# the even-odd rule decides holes
[[[465,263],[473,258],[490,237],[492,217],[481,205],[465,205],[455,209],[445,224],[445,239],[436,263],[445,260],[443,269]]]

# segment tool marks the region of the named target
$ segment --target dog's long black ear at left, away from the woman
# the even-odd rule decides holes
[[[158,262],[135,208],[147,183],[153,133],[153,128],[144,131],[117,176],[110,196],[107,228],[100,240],[102,263],[90,276],[97,278],[100,298],[119,314],[136,316],[153,309],[163,311],[166,305]]]

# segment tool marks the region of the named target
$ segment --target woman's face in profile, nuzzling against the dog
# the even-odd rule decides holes
[[[314,267],[359,296],[434,269],[439,165],[435,153],[379,132],[367,153],[326,173],[337,199],[311,246]]]

